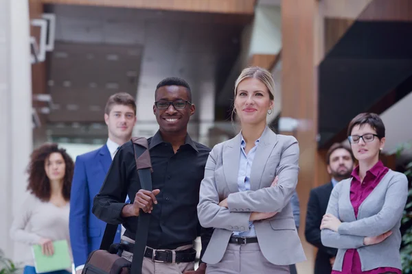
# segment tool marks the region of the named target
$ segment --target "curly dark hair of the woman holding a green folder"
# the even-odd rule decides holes
[[[45,161],[49,155],[57,152],[60,153],[65,160],[66,170],[63,178],[62,195],[66,201],[70,200],[71,179],[73,179],[74,163],[65,149],[59,148],[57,144],[45,144],[38,149],[35,149],[30,155],[30,163],[27,167],[29,174],[29,184],[27,190],[30,193],[41,199],[41,201],[49,201],[51,190],[49,178],[45,171]]]

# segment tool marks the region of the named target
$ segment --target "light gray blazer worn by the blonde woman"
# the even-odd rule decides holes
[[[264,130],[251,167],[251,190],[238,191],[241,136],[216,145],[210,152],[201,183],[198,219],[214,227],[202,260],[222,260],[233,231],[249,231],[251,212],[278,212],[271,219],[255,221],[256,236],[264,257],[273,264],[306,260],[293,220],[290,197],[297,185],[299,145],[293,136]],[[271,186],[275,176],[277,186]],[[227,198],[228,208],[218,206]]]

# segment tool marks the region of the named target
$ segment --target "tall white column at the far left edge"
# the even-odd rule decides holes
[[[9,230],[25,197],[32,152],[29,3],[0,0],[0,249],[17,258]]]

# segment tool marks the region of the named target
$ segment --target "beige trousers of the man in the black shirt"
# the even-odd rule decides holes
[[[131,243],[135,243],[126,236],[122,236],[122,240],[126,240]],[[174,249],[174,251],[185,250],[192,248],[192,245],[183,245]],[[122,257],[128,261],[133,260],[133,253],[123,251]],[[182,274],[183,271],[194,270],[194,262],[179,262],[179,263],[165,263],[165,262],[153,262],[151,259],[144,257],[143,266],[141,268],[142,274]]]

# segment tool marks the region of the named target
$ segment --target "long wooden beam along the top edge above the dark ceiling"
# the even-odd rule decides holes
[[[98,5],[113,8],[253,14],[256,0],[41,0],[45,4]]]

